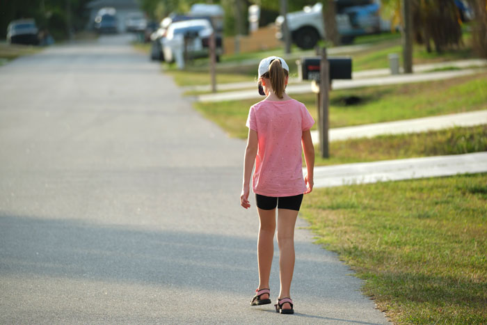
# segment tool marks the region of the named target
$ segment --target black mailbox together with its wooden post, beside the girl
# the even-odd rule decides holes
[[[328,92],[333,79],[352,79],[352,60],[348,57],[328,58],[326,48],[320,56],[301,58],[298,74],[302,80],[312,80],[311,88],[317,94],[319,148],[321,157],[328,158]]]

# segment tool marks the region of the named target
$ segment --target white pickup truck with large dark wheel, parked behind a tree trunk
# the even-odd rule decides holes
[[[288,13],[287,26],[291,33],[292,42],[301,49],[312,49],[318,40],[325,38],[323,5],[316,3],[314,6],[305,6],[303,10]],[[374,0],[335,0],[337,29],[341,41],[344,44],[353,42],[358,35],[378,33],[381,31],[381,6]],[[276,19],[278,33],[276,37],[281,39],[282,23],[284,17]]]

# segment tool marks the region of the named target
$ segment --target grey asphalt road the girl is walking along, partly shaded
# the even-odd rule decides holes
[[[127,36],[19,58],[0,85],[1,324],[386,323],[301,228],[296,314],[249,306],[245,143],[193,111]]]

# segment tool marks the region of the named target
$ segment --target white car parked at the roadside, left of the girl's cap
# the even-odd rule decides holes
[[[166,37],[161,39],[162,51],[166,62],[175,61],[177,51],[185,51],[189,58],[209,56],[209,37],[213,27],[208,19],[192,19],[173,22],[168,27]],[[216,35],[216,60],[223,53],[221,36]]]

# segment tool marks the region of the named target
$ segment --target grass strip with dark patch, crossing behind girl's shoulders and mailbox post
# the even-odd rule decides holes
[[[363,125],[391,120],[438,116],[447,113],[487,109],[487,73],[445,81],[332,90],[330,92],[330,127]],[[346,97],[360,98],[346,106]],[[317,119],[314,94],[293,96],[303,102]],[[214,120],[230,136],[246,138],[248,109],[256,100],[195,102],[196,109]],[[316,129],[316,125],[313,127]]]

